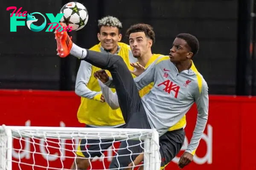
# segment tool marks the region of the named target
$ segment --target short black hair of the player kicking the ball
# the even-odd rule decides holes
[[[199,41],[198,39],[187,33],[178,34],[176,38],[181,38],[186,41],[186,43],[189,45],[191,52],[193,53],[193,56],[198,53],[199,50]]]

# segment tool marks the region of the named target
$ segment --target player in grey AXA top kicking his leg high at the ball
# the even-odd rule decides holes
[[[106,85],[116,89],[119,105],[126,122],[125,127],[156,128],[160,133],[160,146],[168,138],[166,132],[169,127],[175,125],[196,102],[198,107],[196,127],[192,140],[186,152],[181,156],[178,165],[183,168],[192,161],[208,119],[208,86],[192,62],[192,57],[197,54],[199,48],[196,37],[191,34],[177,35],[169,57],[160,57],[135,79],[131,76],[123,59],[118,55],[80,48],[70,40],[66,33],[57,32],[55,37],[60,57],[72,54],[111,72],[112,78],[108,77],[104,71],[99,71],[97,76],[104,80]],[[133,53],[140,52],[136,46],[131,46],[131,50]],[[154,82],[154,87],[141,99],[138,89],[151,82]],[[127,143],[129,146],[134,144],[134,147],[129,148],[132,153],[142,152],[141,147],[136,146],[136,141],[122,142],[120,147],[127,148]],[[162,161],[171,161],[169,159],[172,158],[173,153],[165,152],[165,148],[160,147]],[[118,151],[119,156],[129,155],[129,153],[130,151],[127,149]],[[127,167],[129,163],[129,156],[122,160],[115,157],[109,168]]]

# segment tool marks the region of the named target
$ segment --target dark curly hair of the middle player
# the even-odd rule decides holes
[[[126,37],[129,38],[131,33],[134,32],[144,32],[145,36],[148,37],[150,40],[153,41],[153,44],[155,42],[155,33],[153,31],[153,27],[148,25],[148,24],[143,24],[143,23],[139,23],[139,24],[134,24],[132,26],[130,26],[130,28],[128,28],[128,30],[126,31]]]

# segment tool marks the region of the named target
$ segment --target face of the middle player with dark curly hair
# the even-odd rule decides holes
[[[129,36],[129,44],[135,58],[140,58],[151,51],[152,40],[145,36],[144,32],[134,32]]]

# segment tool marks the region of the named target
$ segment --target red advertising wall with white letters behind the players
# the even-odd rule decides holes
[[[0,91],[1,119],[0,124],[18,126],[53,126],[53,127],[84,127],[76,118],[80,98],[74,92],[59,91]],[[236,96],[210,96],[209,121],[194,156],[194,161],[184,169],[192,170],[252,170],[256,165],[254,161],[255,112],[256,97]],[[183,149],[191,139],[195,127],[197,110],[195,105],[187,113],[186,139]],[[116,144],[118,146],[118,144]],[[14,147],[19,148],[18,141]],[[58,147],[58,146],[57,146]],[[69,146],[65,146],[69,148]],[[36,147],[37,152],[45,152],[44,148]],[[70,147],[69,149],[72,149]],[[166,167],[166,170],[178,170],[177,161],[183,153]],[[23,154],[21,161],[33,164],[34,147],[30,146],[32,153]],[[60,155],[60,151],[50,150],[50,153]],[[72,152],[62,153],[65,156],[74,156]],[[105,153],[111,155],[113,153]],[[47,160],[35,154],[35,163],[47,165]],[[48,158],[50,159],[50,158]],[[17,152],[13,153],[13,160],[19,161]],[[73,159],[52,159],[49,167],[70,168]],[[95,159],[93,169],[108,166],[109,160]],[[63,164],[62,164],[63,163]],[[25,165],[20,165],[20,167]],[[31,167],[30,167],[31,168]],[[18,164],[13,164],[13,170],[18,170]],[[37,168],[35,168],[37,169]],[[51,168],[49,168],[51,169]]]

